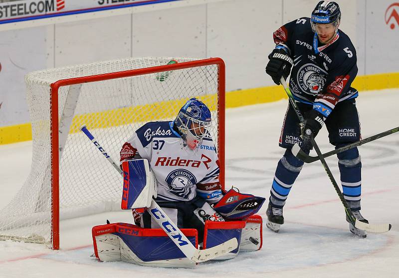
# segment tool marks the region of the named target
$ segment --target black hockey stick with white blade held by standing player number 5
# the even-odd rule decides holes
[[[281,77],[280,83],[284,87],[284,90],[288,95],[289,102],[291,103],[292,108],[294,108],[295,113],[297,114],[297,116],[299,118],[299,121],[301,122],[301,124],[305,124],[305,119],[303,118],[302,113],[298,108],[298,105],[296,105],[294,96],[292,95],[292,93],[283,77]],[[333,184],[334,189],[338,194],[338,197],[340,198],[342,204],[344,205],[345,213],[348,216],[349,220],[351,221],[352,225],[355,226],[359,230],[368,231],[368,232],[372,232],[372,233],[384,233],[384,232],[388,232],[389,230],[391,230],[391,227],[392,227],[391,224],[367,224],[367,223],[363,223],[363,222],[359,221],[358,219],[356,219],[356,217],[353,215],[348,203],[346,202],[344,195],[342,194],[340,188],[338,187],[338,184],[335,181],[334,176],[331,173],[331,170],[328,167],[327,162],[323,157],[323,154],[321,153],[319,147],[317,146],[316,141],[313,138],[313,134],[310,135],[310,141],[311,141],[313,147],[315,148],[315,151],[316,151],[318,157],[320,158],[320,161],[323,164],[324,170],[326,170],[326,173],[327,173],[328,177],[330,178],[330,181]]]

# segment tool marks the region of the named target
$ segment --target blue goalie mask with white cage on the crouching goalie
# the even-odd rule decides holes
[[[180,109],[175,120],[180,135],[185,143],[196,149],[208,132],[211,125],[210,111],[206,105],[197,98],[192,98]]]

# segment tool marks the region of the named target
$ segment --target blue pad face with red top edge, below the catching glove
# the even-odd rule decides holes
[[[214,247],[235,238],[238,242],[238,247],[223,256],[216,257],[214,260],[227,260],[236,257],[239,251],[241,232],[244,227],[245,221],[206,221],[203,235],[203,249]]]

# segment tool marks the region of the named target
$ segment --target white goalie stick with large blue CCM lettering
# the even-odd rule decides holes
[[[83,125],[80,130],[90,139],[91,142],[100,150],[105,158],[114,166],[119,174],[123,177],[122,169],[116,165],[114,160],[105,152],[103,147],[97,142],[90,131]],[[148,208],[151,217],[158,223],[158,225],[165,231],[169,238],[176,244],[176,246],[183,252],[183,254],[192,262],[201,263],[212,260],[218,256],[228,253],[238,247],[236,238],[230,239],[217,246],[198,250],[189,241],[189,239],[182,233],[178,226],[168,217],[162,208],[153,199],[151,206]]]

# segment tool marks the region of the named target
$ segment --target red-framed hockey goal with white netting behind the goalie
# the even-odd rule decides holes
[[[99,134],[100,132],[103,132],[103,130],[106,130],[104,131],[105,133],[103,135],[103,138],[107,137],[108,139],[108,137],[110,137],[110,134],[115,137],[112,139],[113,141],[106,142],[104,144],[105,148],[108,148],[107,144],[112,146],[119,145],[120,148],[124,143],[122,141],[128,138],[126,137],[126,131],[124,131],[123,134],[122,133],[119,134],[118,133],[119,131],[111,131],[110,133],[107,133],[108,130],[117,128],[118,125],[121,126],[126,125],[128,126],[127,130],[129,130],[130,133],[132,134],[135,131],[135,129],[138,128],[137,126],[138,124],[144,123],[146,121],[166,120],[166,118],[168,118],[169,120],[173,120],[177,115],[178,109],[183,105],[185,101],[187,101],[191,97],[199,97],[201,100],[203,100],[205,104],[207,104],[210,110],[212,111],[212,117],[213,117],[212,120],[216,122],[215,126],[212,127],[214,130],[212,130],[211,134],[216,139],[215,143],[218,149],[218,157],[220,165],[219,179],[224,188],[225,65],[223,60],[220,58],[208,58],[208,59],[197,60],[189,58],[170,58],[170,57],[168,58],[148,57],[148,58],[138,58],[138,59],[145,60],[144,64],[149,63],[151,66],[134,68],[129,70],[121,70],[121,71],[101,72],[100,74],[91,74],[91,75],[77,76],[77,77],[71,74],[67,75],[69,78],[62,78],[59,80],[57,79],[56,81],[51,82],[49,84],[49,109],[50,109],[49,142],[50,142],[50,152],[51,152],[51,159],[49,162],[50,174],[48,175],[49,176],[48,178],[47,175],[44,175],[44,177],[41,178],[43,180],[44,185],[42,185],[41,187],[40,186],[36,187],[38,189],[36,189],[35,192],[31,193],[31,195],[34,195],[34,198],[32,198],[32,200],[39,200],[38,202],[41,202],[40,207],[42,206],[43,202],[44,203],[46,202],[45,200],[46,198],[51,199],[51,204],[50,204],[51,221],[49,223],[50,236],[48,239],[46,236],[46,232],[41,232],[41,231],[35,232],[34,236],[32,236],[32,234],[12,235],[12,233],[8,236],[7,235],[3,236],[4,235],[3,230],[7,229],[12,230],[9,228],[14,228],[15,230],[24,230],[23,228],[28,228],[30,225],[33,227],[38,223],[39,225],[44,225],[47,220],[46,216],[42,215],[42,212],[44,212],[45,209],[40,208],[38,210],[37,207],[39,206],[36,205],[35,215],[33,217],[34,220],[30,221],[31,223],[28,223],[29,221],[27,219],[29,219],[29,216],[25,215],[24,221],[26,221],[26,223],[22,228],[19,227],[18,224],[13,224],[6,226],[6,229],[4,229],[5,226],[3,224],[2,216],[6,215],[7,212],[5,212],[4,214],[3,211],[0,211],[0,238],[3,239],[10,238],[21,241],[47,243],[50,244],[53,249],[57,250],[60,247],[60,240],[59,240],[60,220],[76,217],[75,215],[80,216],[81,214],[75,214],[77,208],[82,208],[83,211],[89,211],[88,212],[89,214],[101,212],[97,208],[94,209],[94,211],[87,210],[85,209],[86,204],[80,204],[78,202],[75,203],[75,201],[73,200],[74,198],[77,198],[76,195],[81,195],[78,196],[79,198],[87,197],[88,199],[90,198],[101,199],[102,197],[101,194],[103,193],[96,192],[97,190],[99,190],[98,185],[103,180],[108,179],[109,175],[114,175],[113,173],[111,174],[111,171],[114,171],[114,169],[111,169],[112,167],[104,166],[104,168],[107,167],[106,169],[108,169],[109,167],[110,173],[101,176],[100,177],[101,181],[94,182],[95,186],[87,183],[80,184],[81,180],[84,180],[85,178],[86,179],[92,179],[92,178],[86,177],[86,174],[84,174],[84,176],[82,176],[83,174],[77,174],[76,171],[77,170],[80,171],[81,168],[84,168],[84,171],[90,172],[91,166],[98,167],[99,169],[104,169],[102,167],[101,160],[105,161],[105,159],[99,156],[99,154],[92,149],[92,146],[89,146],[88,147],[89,149],[86,148],[85,146],[83,147],[81,146],[81,144],[85,143],[79,143],[80,139],[76,138],[77,136],[79,136],[79,134],[77,134],[76,132],[76,127],[78,125],[86,124],[85,121],[90,121],[87,124],[87,126],[88,128],[92,129],[93,134]],[[155,59],[156,61],[154,62],[152,59]],[[167,64],[168,60],[172,59],[176,59],[178,63]],[[140,60],[140,62],[142,60]],[[119,63],[119,60],[115,61],[118,61]],[[110,65],[110,61],[89,64],[88,67],[96,68],[97,65],[100,65],[100,67],[111,68],[112,70],[116,68],[114,65]],[[124,66],[122,68],[124,68]],[[64,69],[65,72],[68,71],[68,74],[70,70],[73,71],[73,67],[65,67]],[[96,70],[94,70],[94,72],[96,72]],[[46,70],[46,72],[50,71],[51,69]],[[78,72],[79,70],[76,71]],[[100,71],[104,70],[101,69]],[[45,74],[46,72],[44,72],[43,74]],[[119,81],[115,80],[123,80],[123,82],[121,81],[120,83],[118,83],[118,85],[116,85],[114,83]],[[33,81],[31,82],[32,83],[31,86],[35,87],[37,85],[36,83],[40,82],[42,81],[40,80],[37,82]],[[46,82],[42,83],[46,84]],[[93,87],[91,87],[90,89],[86,89],[86,86],[88,86],[88,84],[90,83],[96,85],[93,85]],[[105,89],[102,88],[102,85],[104,85]],[[29,90],[30,88],[28,86],[28,91]],[[81,103],[80,97],[86,94],[86,91],[88,90],[90,91],[90,98],[82,100],[83,102]],[[60,93],[61,91],[62,93]],[[68,92],[67,96],[61,96],[61,94],[64,94],[65,91]],[[103,91],[104,95],[100,96],[100,94],[102,94]],[[100,108],[97,107],[97,106],[107,107],[107,103],[110,104],[113,103],[116,98],[120,97],[123,94],[124,91],[140,91],[140,93],[142,93],[142,91],[145,91],[144,92],[145,94],[140,95],[139,97],[131,96],[132,99],[135,98],[135,100],[132,100],[131,106],[128,105],[123,106],[124,104],[122,104],[121,106],[121,104],[118,103],[117,105],[115,105],[115,107],[117,107],[115,109],[112,108],[107,110],[107,108],[105,109],[101,108],[104,109],[101,110]],[[97,92],[99,92],[98,95],[96,94]],[[159,96],[161,97],[158,98]],[[31,98],[28,97],[30,102],[32,101],[34,102],[36,98],[37,97],[35,96]],[[143,100],[143,98],[146,98],[145,101]],[[139,105],[136,105],[138,103]],[[91,108],[92,104],[96,106],[94,110],[91,110],[93,109]],[[173,109],[169,109],[169,107],[172,106]],[[87,111],[84,111],[84,113],[82,113],[82,110],[86,109],[86,107]],[[35,109],[34,103],[31,104],[31,109],[30,109],[31,114],[33,109]],[[165,113],[163,113],[162,115],[158,114],[165,111],[166,114]],[[104,118],[104,114],[107,114],[107,117]],[[122,116],[125,116],[126,114],[129,114],[130,116],[121,119]],[[140,119],[135,118],[132,120],[131,118],[135,117],[136,115],[139,115]],[[112,120],[110,120],[110,117],[112,118]],[[35,128],[33,128],[34,125]],[[41,134],[42,132],[41,129],[46,129],[46,126],[47,126],[47,121],[45,119],[44,120],[38,119],[35,120],[34,123],[32,122],[33,149],[35,149],[36,145],[42,146],[43,144],[44,145],[46,144],[43,143],[45,140],[43,142],[40,141],[43,139],[42,137],[46,137],[46,135]],[[35,143],[37,141],[35,139],[35,136],[39,138],[37,139],[39,143]],[[118,142],[118,139],[120,139],[121,141]],[[85,140],[87,141],[87,138]],[[101,136],[99,137],[99,140],[101,141],[103,140]],[[78,150],[74,150],[73,152],[71,152],[70,149],[78,149]],[[45,150],[47,149],[44,148],[42,152],[45,152]],[[33,150],[33,155],[34,153],[35,151]],[[85,164],[83,164],[83,166],[80,167],[76,166],[76,164],[79,163],[79,160],[84,160],[85,156],[88,153],[94,153],[96,155],[96,157],[93,157],[91,158],[91,160],[89,160],[90,163],[91,161],[95,160],[96,164],[87,165],[87,168]],[[115,157],[117,155],[117,154],[115,155],[115,153],[116,151],[114,151],[113,157],[116,160],[118,157]],[[38,161],[38,163],[40,164],[41,161]],[[32,158],[31,175],[32,172],[37,171],[34,170],[33,168],[40,167],[33,164],[34,163]],[[43,171],[45,171],[46,169],[45,163],[43,163],[43,166],[44,166]],[[65,169],[67,169],[68,167],[71,167],[73,171],[68,170],[69,172],[66,172],[67,170]],[[39,174],[41,175],[41,173]],[[99,175],[100,174],[102,173],[99,173]],[[79,175],[81,175],[80,179],[79,177],[75,177]],[[66,179],[64,178],[66,176],[68,177],[67,183],[61,186],[60,181]],[[28,178],[28,180],[29,179],[30,178]],[[51,184],[50,189],[48,189],[45,186],[47,179]],[[67,191],[65,192],[65,194],[60,195],[60,192],[62,190],[65,191],[66,190],[65,188],[75,184],[80,184],[78,187],[76,187],[77,189],[74,187],[74,189],[70,190],[69,192]],[[117,192],[118,188],[115,188],[114,185],[115,179],[104,181],[104,184],[107,184],[107,186],[109,184],[113,185],[112,188],[105,188],[104,194],[108,194],[107,191],[112,191],[114,196],[117,196],[122,192],[121,184],[116,185],[120,189],[120,192],[119,193]],[[25,185],[23,186],[25,187],[24,189],[25,191],[29,190],[28,186],[29,186],[29,181],[26,181]],[[80,190],[83,190],[87,187],[92,187],[92,188],[94,187],[95,188],[94,192],[92,191],[90,191],[89,193],[80,192]],[[49,193],[50,196],[47,197],[46,192],[48,192],[49,190],[50,190]],[[39,193],[37,191],[39,191]],[[98,196],[96,195],[97,193]],[[113,198],[115,199],[115,197]],[[115,200],[112,201],[115,202]],[[118,201],[120,203],[120,197]],[[15,203],[15,200],[13,200],[12,202]],[[87,203],[90,203],[90,201],[88,201]],[[65,211],[67,212],[64,213],[64,217],[62,217],[61,219],[60,211],[62,213],[64,207]],[[72,210],[72,212],[69,212],[69,210]],[[40,215],[39,217],[40,221],[37,220],[36,214]],[[18,221],[15,221],[14,223],[17,222]],[[26,240],[26,238],[28,238],[28,240]],[[36,240],[36,238],[39,240]]]

